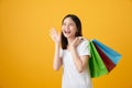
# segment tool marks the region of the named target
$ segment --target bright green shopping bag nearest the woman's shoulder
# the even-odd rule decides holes
[[[90,41],[89,44],[91,53],[91,57],[89,58],[89,69],[91,78],[108,74],[108,69],[103,64],[99,53],[97,52],[92,41]]]

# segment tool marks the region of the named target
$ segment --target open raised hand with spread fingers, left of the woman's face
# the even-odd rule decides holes
[[[54,28],[50,31],[50,36],[55,43],[61,43],[61,34]]]

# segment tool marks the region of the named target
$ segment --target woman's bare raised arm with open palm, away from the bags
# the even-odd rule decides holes
[[[63,65],[62,57],[59,55],[61,35],[57,33],[57,31],[55,29],[51,30],[50,35],[55,43],[53,68],[54,68],[54,70],[58,70],[61,68],[61,66]]]

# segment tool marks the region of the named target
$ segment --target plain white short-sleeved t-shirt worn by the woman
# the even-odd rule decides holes
[[[76,50],[79,56],[90,55],[89,41],[84,40]],[[64,65],[62,88],[91,88],[89,65],[85,72],[79,73],[76,69],[72,53],[69,51],[61,50],[61,56]]]

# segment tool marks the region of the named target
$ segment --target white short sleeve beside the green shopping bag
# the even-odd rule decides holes
[[[77,47],[78,55],[89,55],[90,56],[90,45],[88,40],[84,40]]]

